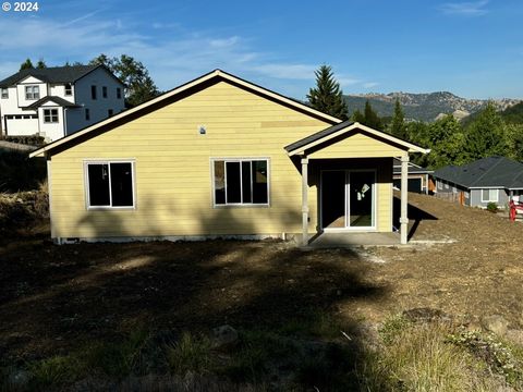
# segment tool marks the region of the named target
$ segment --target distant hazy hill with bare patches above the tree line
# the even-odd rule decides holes
[[[394,110],[394,102],[398,98],[403,106],[405,117],[411,120],[435,121],[441,114],[453,113],[458,119],[464,119],[471,113],[483,109],[488,100],[466,99],[452,93],[438,91],[427,94],[412,93],[389,93],[389,94],[364,94],[343,96],[349,113],[354,110],[363,110],[365,101],[368,100],[374,110],[380,117],[390,117]],[[519,99],[503,98],[494,100],[498,110],[506,110],[521,102]]]

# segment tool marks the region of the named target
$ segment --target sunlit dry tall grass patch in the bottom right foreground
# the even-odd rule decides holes
[[[449,344],[448,324],[409,323],[394,317],[380,331],[382,348],[361,364],[369,391],[492,391],[497,381],[463,347]]]

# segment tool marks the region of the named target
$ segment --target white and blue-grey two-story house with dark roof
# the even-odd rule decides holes
[[[57,140],[124,110],[123,87],[104,65],[20,71],[0,82],[2,133]]]

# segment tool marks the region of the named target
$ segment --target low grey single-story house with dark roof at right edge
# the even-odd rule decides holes
[[[460,167],[447,166],[434,172],[437,196],[464,206],[506,207],[511,195],[523,194],[523,163],[504,157],[489,157]]]

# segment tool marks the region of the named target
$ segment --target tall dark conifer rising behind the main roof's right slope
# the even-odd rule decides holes
[[[333,77],[332,69],[329,65],[321,65],[314,74],[316,87],[308,91],[308,103],[324,113],[346,120],[346,103],[340,84]]]

